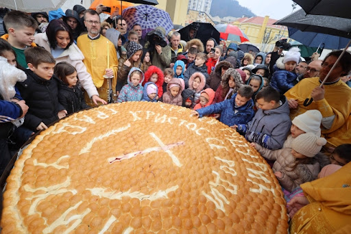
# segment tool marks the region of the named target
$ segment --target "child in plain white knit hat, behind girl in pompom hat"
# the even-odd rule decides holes
[[[304,112],[304,114],[296,116],[293,121],[291,121],[291,134],[288,135],[282,148],[291,148],[293,140],[303,133],[313,133],[317,137],[320,137],[321,121],[322,114],[317,109],[310,109]]]

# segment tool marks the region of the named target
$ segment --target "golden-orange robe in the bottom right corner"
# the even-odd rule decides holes
[[[334,233],[350,229],[351,162],[330,174],[301,185],[310,204],[291,221],[290,233]]]

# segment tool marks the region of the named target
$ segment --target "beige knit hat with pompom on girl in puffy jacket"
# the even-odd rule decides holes
[[[325,144],[325,138],[319,138],[313,133],[304,133],[293,140],[291,148],[306,157],[315,157]]]

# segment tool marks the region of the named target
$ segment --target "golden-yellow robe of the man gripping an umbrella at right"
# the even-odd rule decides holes
[[[303,114],[308,109],[318,109],[319,112],[322,113],[323,118],[335,115],[332,127],[330,129],[322,129],[322,134],[325,135],[324,137],[326,140],[329,138],[337,138],[342,135],[339,134],[338,131],[348,131],[348,129],[342,129],[347,127],[343,125],[346,125],[351,113],[351,89],[343,83],[341,79],[336,83],[325,84],[324,99],[313,101],[311,105],[305,107],[305,99],[311,98],[312,90],[319,85],[319,77],[306,78],[302,79],[302,81],[285,93],[287,99],[295,99],[298,101],[298,108],[291,109],[290,118],[293,119],[295,116]],[[330,133],[332,133],[332,135],[329,136]],[[348,141],[350,141],[350,139],[343,140],[345,143]],[[332,141],[328,140],[328,142],[333,146],[339,145],[339,143],[336,143],[338,142],[337,139]]]

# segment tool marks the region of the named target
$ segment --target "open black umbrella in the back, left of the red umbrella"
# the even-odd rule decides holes
[[[189,31],[193,31],[193,38],[189,36]],[[183,27],[178,31],[182,40],[188,42],[191,39],[197,38],[206,46],[208,38],[214,38],[219,43],[219,31],[210,23],[193,22],[190,25]]]

